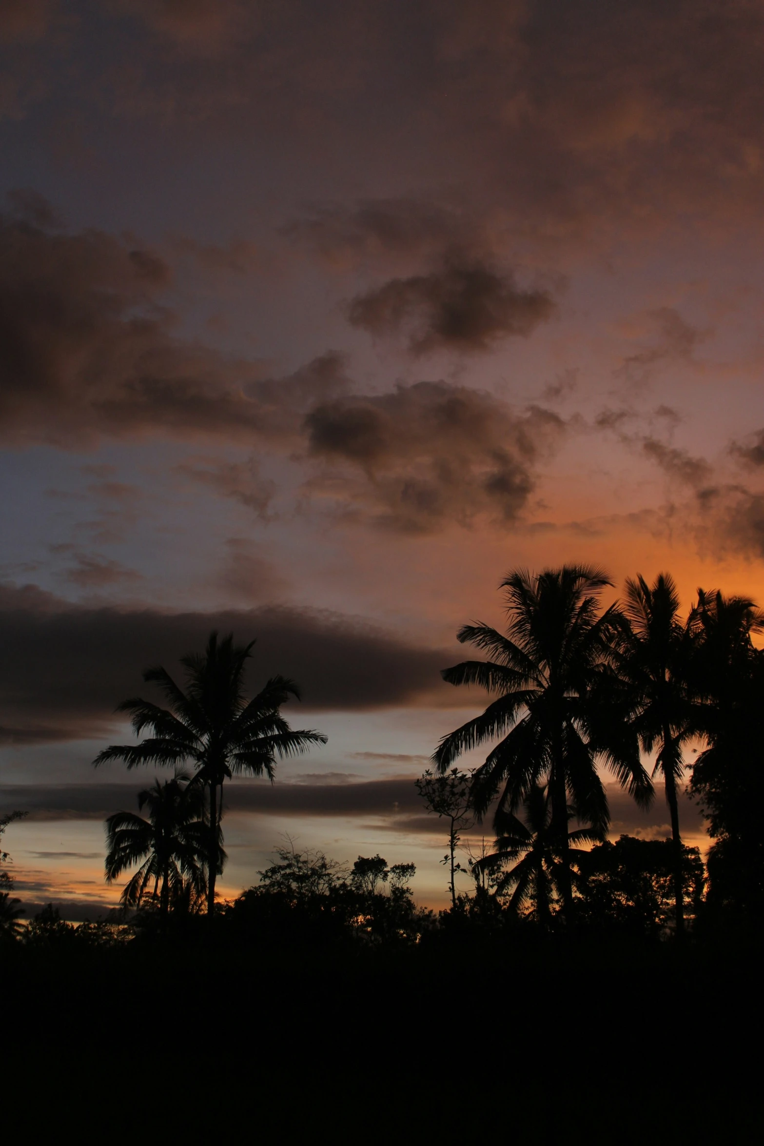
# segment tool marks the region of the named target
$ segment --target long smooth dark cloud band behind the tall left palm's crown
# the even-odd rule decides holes
[[[103,736],[143,688],[141,672],[202,649],[211,629],[257,638],[251,686],[282,673],[304,707],[372,709],[452,704],[440,669],[451,652],[417,649],[361,620],[302,609],[165,613],[72,606],[34,586],[0,588],[0,737]],[[298,706],[299,707],[299,706]]]

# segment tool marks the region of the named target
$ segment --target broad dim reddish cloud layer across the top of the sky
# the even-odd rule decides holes
[[[38,34],[47,7],[6,0],[9,34]],[[346,0],[112,0],[97,18],[66,7],[80,17],[69,66],[46,83],[78,113],[95,93],[100,112],[151,127],[262,128],[279,154],[286,132],[329,138],[356,167],[379,150],[375,174],[417,159],[412,182],[471,185],[550,244],[624,222],[758,225],[764,13],[750,0],[369,0],[352,11]]]

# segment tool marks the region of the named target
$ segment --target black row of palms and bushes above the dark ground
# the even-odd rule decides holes
[[[756,933],[764,905],[764,653],[753,637],[764,614],[746,598],[699,590],[683,617],[668,574],[652,586],[641,576],[628,581],[622,601],[602,609],[609,584],[584,566],[514,571],[502,582],[506,630],[482,623],[459,630],[459,641],[483,658],[443,677],[487,691],[490,702],[443,737],[433,768],[416,782],[448,834],[450,908],[439,916],[416,906],[411,864],[388,868],[380,856],[359,856],[345,868],[293,849],[279,850],[233,903],[216,902],[227,858],[226,783],[238,775],[273,782],[278,759],[325,737],[294,730],[282,715],[283,704],[299,697],[292,681],[271,677],[246,698],[252,644],[237,646],[231,636],[213,633],[204,653],[183,659],[183,686],[163,667],[148,669],[144,680],[158,686],[164,706],[124,701],[119,711],[142,739],[105,748],[95,764],[168,767],[174,776],[140,793],[139,814],[109,817],[105,876],[129,873],[121,893],[128,915],[79,928],[77,942],[200,935],[205,916],[220,937],[268,933],[278,942],[302,935],[367,945],[427,945],[471,929],[515,939],[522,928],[651,940]],[[482,744],[490,745],[485,763],[459,771],[459,756]],[[707,868],[682,840],[677,795],[688,753],[690,791],[712,837]],[[608,841],[602,767],[640,807],[665,800],[668,840]],[[478,824],[485,831],[487,816],[495,839],[475,855],[474,835],[463,846],[463,834]],[[459,873],[470,890],[457,887]],[[6,941],[76,941],[53,908],[23,926],[7,864],[0,878]]]

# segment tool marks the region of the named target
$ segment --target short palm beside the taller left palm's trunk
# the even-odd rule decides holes
[[[132,811],[117,811],[107,819],[107,882],[140,864],[120,896],[126,908],[140,906],[150,888],[149,894],[158,896],[166,918],[171,902],[187,889],[192,897],[206,890],[203,792],[188,779],[175,776],[164,784],[156,780],[140,792],[137,806],[147,808],[148,819]]]

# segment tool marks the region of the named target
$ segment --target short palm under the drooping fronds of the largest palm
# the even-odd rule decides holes
[[[512,813],[502,813],[497,817],[495,851],[478,859],[474,869],[479,874],[494,876],[497,895],[512,889],[513,911],[533,904],[539,923],[549,924],[554,897],[562,897],[568,881],[560,861],[559,835],[552,829],[549,794],[541,785],[534,785],[522,803],[526,822]],[[573,816],[574,809],[568,809],[568,818]],[[568,855],[575,856],[580,843],[601,843],[602,839],[602,832],[591,827],[569,832]]]

